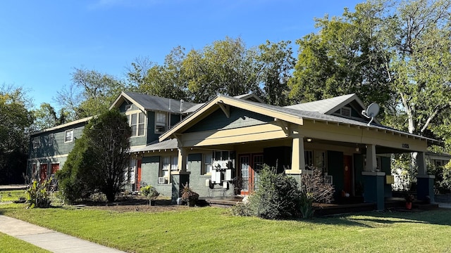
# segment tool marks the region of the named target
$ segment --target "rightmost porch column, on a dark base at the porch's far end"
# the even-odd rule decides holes
[[[418,176],[416,176],[416,198],[418,200],[431,202],[434,199],[434,175],[428,175],[428,168],[426,167],[426,155],[424,152],[419,152],[416,155],[416,165],[418,166]]]

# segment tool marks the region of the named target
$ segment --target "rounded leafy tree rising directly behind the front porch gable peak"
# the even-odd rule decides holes
[[[257,53],[241,39],[226,37],[203,50],[191,50],[183,60],[188,89],[195,103],[217,95],[261,94],[258,83]]]

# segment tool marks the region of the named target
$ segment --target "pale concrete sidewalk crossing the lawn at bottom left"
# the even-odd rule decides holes
[[[0,232],[51,252],[122,252],[4,215],[0,215]]]

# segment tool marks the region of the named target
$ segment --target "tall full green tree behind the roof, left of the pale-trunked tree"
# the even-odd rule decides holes
[[[342,17],[316,19],[319,32],[296,41],[299,56],[289,84],[293,100],[309,102],[357,93],[364,103],[388,105],[386,54],[374,46],[374,11],[362,6],[366,4],[357,5],[355,13],[345,9]]]

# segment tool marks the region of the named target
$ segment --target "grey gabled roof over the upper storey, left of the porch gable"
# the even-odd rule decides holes
[[[158,96],[152,96],[142,93],[123,91],[121,95],[119,95],[118,98],[116,98],[116,100],[110,106],[110,110],[112,108],[118,108],[124,101],[135,104],[142,111],[153,110],[173,113],[183,113],[187,109],[192,108],[194,105],[197,105],[196,103],[185,102],[183,100],[161,98]],[[180,104],[182,104],[181,111]]]

